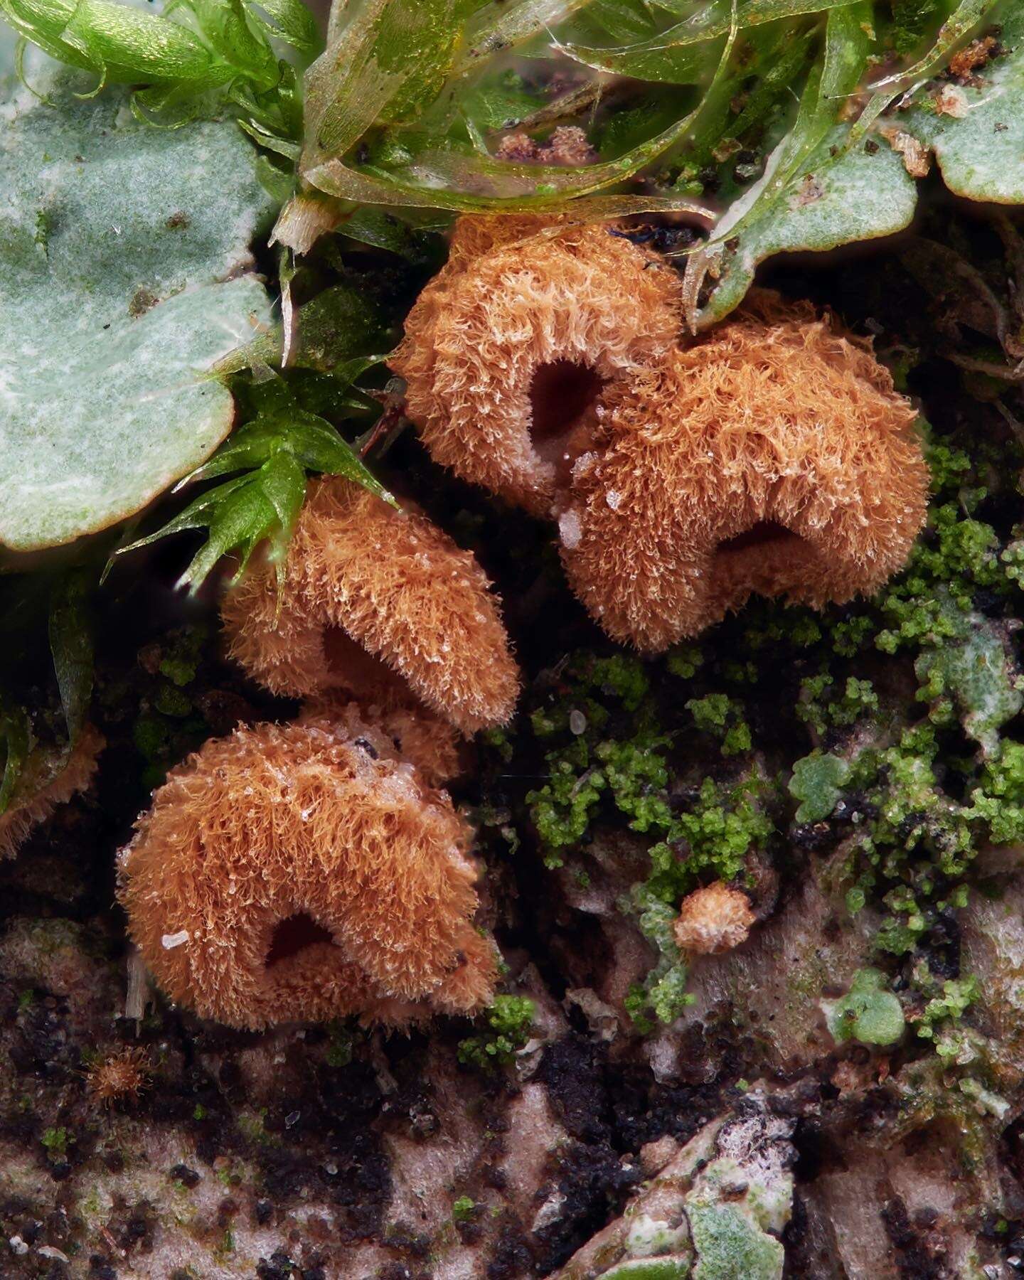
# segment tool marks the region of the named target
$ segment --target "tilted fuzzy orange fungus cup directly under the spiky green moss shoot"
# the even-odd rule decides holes
[[[489,582],[424,516],[340,476],[310,483],[278,594],[253,566],[221,605],[229,654],[275,694],[419,701],[466,733],[504,723],[518,671]]]

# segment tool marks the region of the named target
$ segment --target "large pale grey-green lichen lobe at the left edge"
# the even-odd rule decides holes
[[[0,543],[143,507],[230,430],[207,371],[270,321],[239,274],[273,215],[230,122],[155,129],[125,95],[22,91],[0,137]]]

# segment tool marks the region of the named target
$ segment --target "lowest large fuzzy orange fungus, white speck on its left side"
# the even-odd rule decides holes
[[[173,769],[122,854],[142,959],[205,1018],[259,1029],[485,1005],[471,833],[369,726],[261,724]]]

